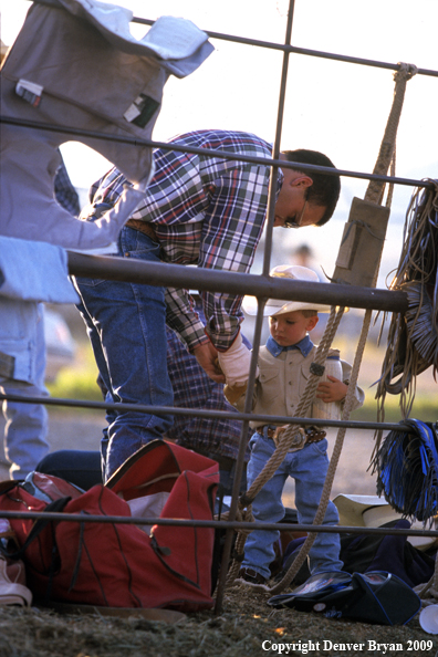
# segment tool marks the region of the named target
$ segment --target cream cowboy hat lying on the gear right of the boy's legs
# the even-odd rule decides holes
[[[348,526],[382,526],[403,518],[401,513],[397,513],[384,498],[378,496],[341,493],[334,498],[333,503],[340,514],[340,524]],[[410,526],[423,529],[423,522],[413,522]],[[435,523],[431,529],[436,529]],[[437,542],[435,536],[408,536],[407,540],[418,550],[428,550]]]

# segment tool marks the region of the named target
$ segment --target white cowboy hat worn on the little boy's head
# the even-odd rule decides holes
[[[292,279],[295,281],[306,281],[309,283],[320,283],[316,272],[307,267],[300,264],[279,264],[274,267],[270,274],[271,277]],[[249,315],[257,315],[257,296],[244,296],[242,307]],[[321,303],[309,303],[305,301],[283,301],[281,299],[269,299],[264,309],[263,315],[282,315],[298,310],[314,310],[320,313],[330,313],[330,305]]]

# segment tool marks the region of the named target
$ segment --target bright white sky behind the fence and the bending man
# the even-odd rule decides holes
[[[30,4],[0,0],[1,39],[7,45],[15,39]],[[119,0],[116,4],[135,17],[182,17],[206,31],[275,43],[284,42],[289,7],[286,0]],[[292,44],[438,70],[437,24],[437,0],[296,0]],[[146,31],[132,28],[136,38]],[[215,39],[211,43],[215,52],[195,73],[169,79],[153,137],[167,140],[191,129],[225,128],[273,142],[282,53]],[[390,70],[291,55],[281,147],[321,150],[340,169],[371,173],[392,105],[393,75]],[[438,178],[437,107],[437,77],[417,75],[408,82],[397,138],[398,177]],[[86,189],[111,166],[81,144],[63,146],[63,155],[79,188]],[[352,199],[363,198],[366,187],[366,180],[343,177],[333,220],[300,233],[275,230],[274,249],[275,242],[290,243],[291,249],[307,242],[315,262],[331,275]],[[411,191],[396,186],[379,286],[398,262]],[[280,258],[283,253],[284,249]],[[275,252],[272,263],[279,263]]]

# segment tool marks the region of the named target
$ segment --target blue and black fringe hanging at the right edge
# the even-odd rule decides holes
[[[377,494],[407,518],[438,513],[438,425],[408,419],[408,431],[389,431],[378,449]]]

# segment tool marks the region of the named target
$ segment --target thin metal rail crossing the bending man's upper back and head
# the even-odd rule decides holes
[[[380,180],[384,182],[394,182],[395,185],[406,185],[409,187],[432,187],[432,182],[428,180],[416,180],[413,178],[398,178],[395,176],[380,176],[378,174],[366,174],[364,171],[351,171],[348,169],[336,169],[334,167],[322,167],[317,165],[285,161],[283,159],[271,159],[267,157],[252,157],[250,155],[236,155],[226,153],[225,150],[215,150],[211,148],[196,148],[195,146],[178,145],[169,142],[155,142],[153,139],[139,139],[138,137],[129,137],[122,135],[111,135],[108,133],[101,133],[97,131],[85,131],[83,128],[75,128],[70,126],[61,126],[56,124],[42,123],[39,121],[28,121],[25,118],[17,118],[15,116],[0,115],[0,123],[7,125],[15,125],[23,128],[49,131],[52,133],[62,133],[76,137],[88,137],[92,139],[103,139],[105,142],[117,142],[118,144],[132,144],[133,146],[150,146],[153,148],[167,148],[180,153],[194,153],[207,157],[216,157],[220,159],[236,159],[239,161],[248,161],[252,164],[262,164],[269,166],[277,166],[282,168],[293,169],[299,166],[300,169],[317,171],[327,174],[328,176],[345,176],[347,178],[359,178],[363,180]]]

